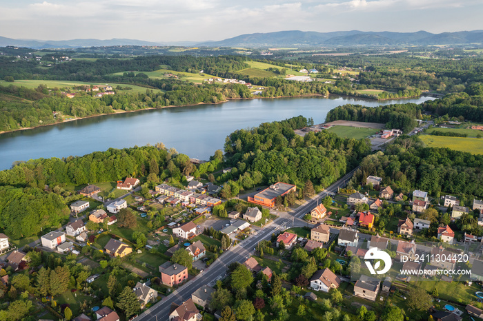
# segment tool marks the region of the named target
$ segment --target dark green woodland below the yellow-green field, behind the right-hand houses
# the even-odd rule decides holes
[[[435,197],[449,193],[471,200],[483,197],[482,168],[482,155],[424,147],[417,137],[402,137],[384,154],[364,158],[350,185],[364,183],[367,176],[374,175],[395,191],[420,189]]]

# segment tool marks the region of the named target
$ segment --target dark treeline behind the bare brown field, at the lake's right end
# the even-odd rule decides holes
[[[422,118],[422,106],[415,103],[395,104],[378,107],[362,105],[342,105],[329,111],[326,122],[344,119],[345,121],[364,121],[385,123],[387,128],[397,128],[410,132],[417,125],[416,119]]]

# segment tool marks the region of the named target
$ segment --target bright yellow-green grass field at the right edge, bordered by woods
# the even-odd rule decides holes
[[[471,154],[483,154],[483,139],[422,135],[421,140],[428,147],[447,147]]]

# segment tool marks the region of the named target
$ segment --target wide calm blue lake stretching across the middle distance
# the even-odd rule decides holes
[[[217,105],[170,107],[111,114],[0,135],[0,169],[32,158],[81,156],[110,147],[155,145],[162,142],[192,158],[208,160],[223,149],[237,129],[281,121],[293,116],[324,123],[329,110],[348,103],[375,107],[392,103],[422,103],[431,97],[371,101],[346,96],[246,99]]]

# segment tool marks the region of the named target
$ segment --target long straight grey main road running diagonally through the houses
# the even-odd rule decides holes
[[[239,244],[235,247],[231,247],[228,251],[223,253],[218,260],[215,260],[210,267],[205,269],[202,273],[199,273],[197,276],[195,276],[195,278],[186,282],[186,284],[173,291],[169,296],[144,311],[144,313],[141,313],[139,316],[137,316],[137,318],[135,318],[135,320],[168,320],[172,302],[181,304],[181,302],[191,298],[191,294],[203,285],[213,285],[216,280],[226,276],[228,265],[233,262],[244,262],[248,256],[253,253],[258,242],[261,240],[270,239],[273,233],[281,229],[280,227],[290,227],[294,220],[300,220],[308,211],[311,211],[311,209],[317,206],[317,203],[319,203],[321,198],[324,198],[326,195],[336,193],[339,187],[344,187],[347,181],[353,176],[355,170],[358,168],[359,167],[356,167],[351,172],[348,172],[344,177],[340,178],[337,180],[337,182],[324,189],[324,191],[317,194],[317,196],[309,200],[304,205],[298,207],[294,211],[291,211],[287,215],[279,216],[273,221],[273,224],[260,229],[257,231],[257,233],[253,234],[253,236],[250,236],[250,238],[239,242]]]

